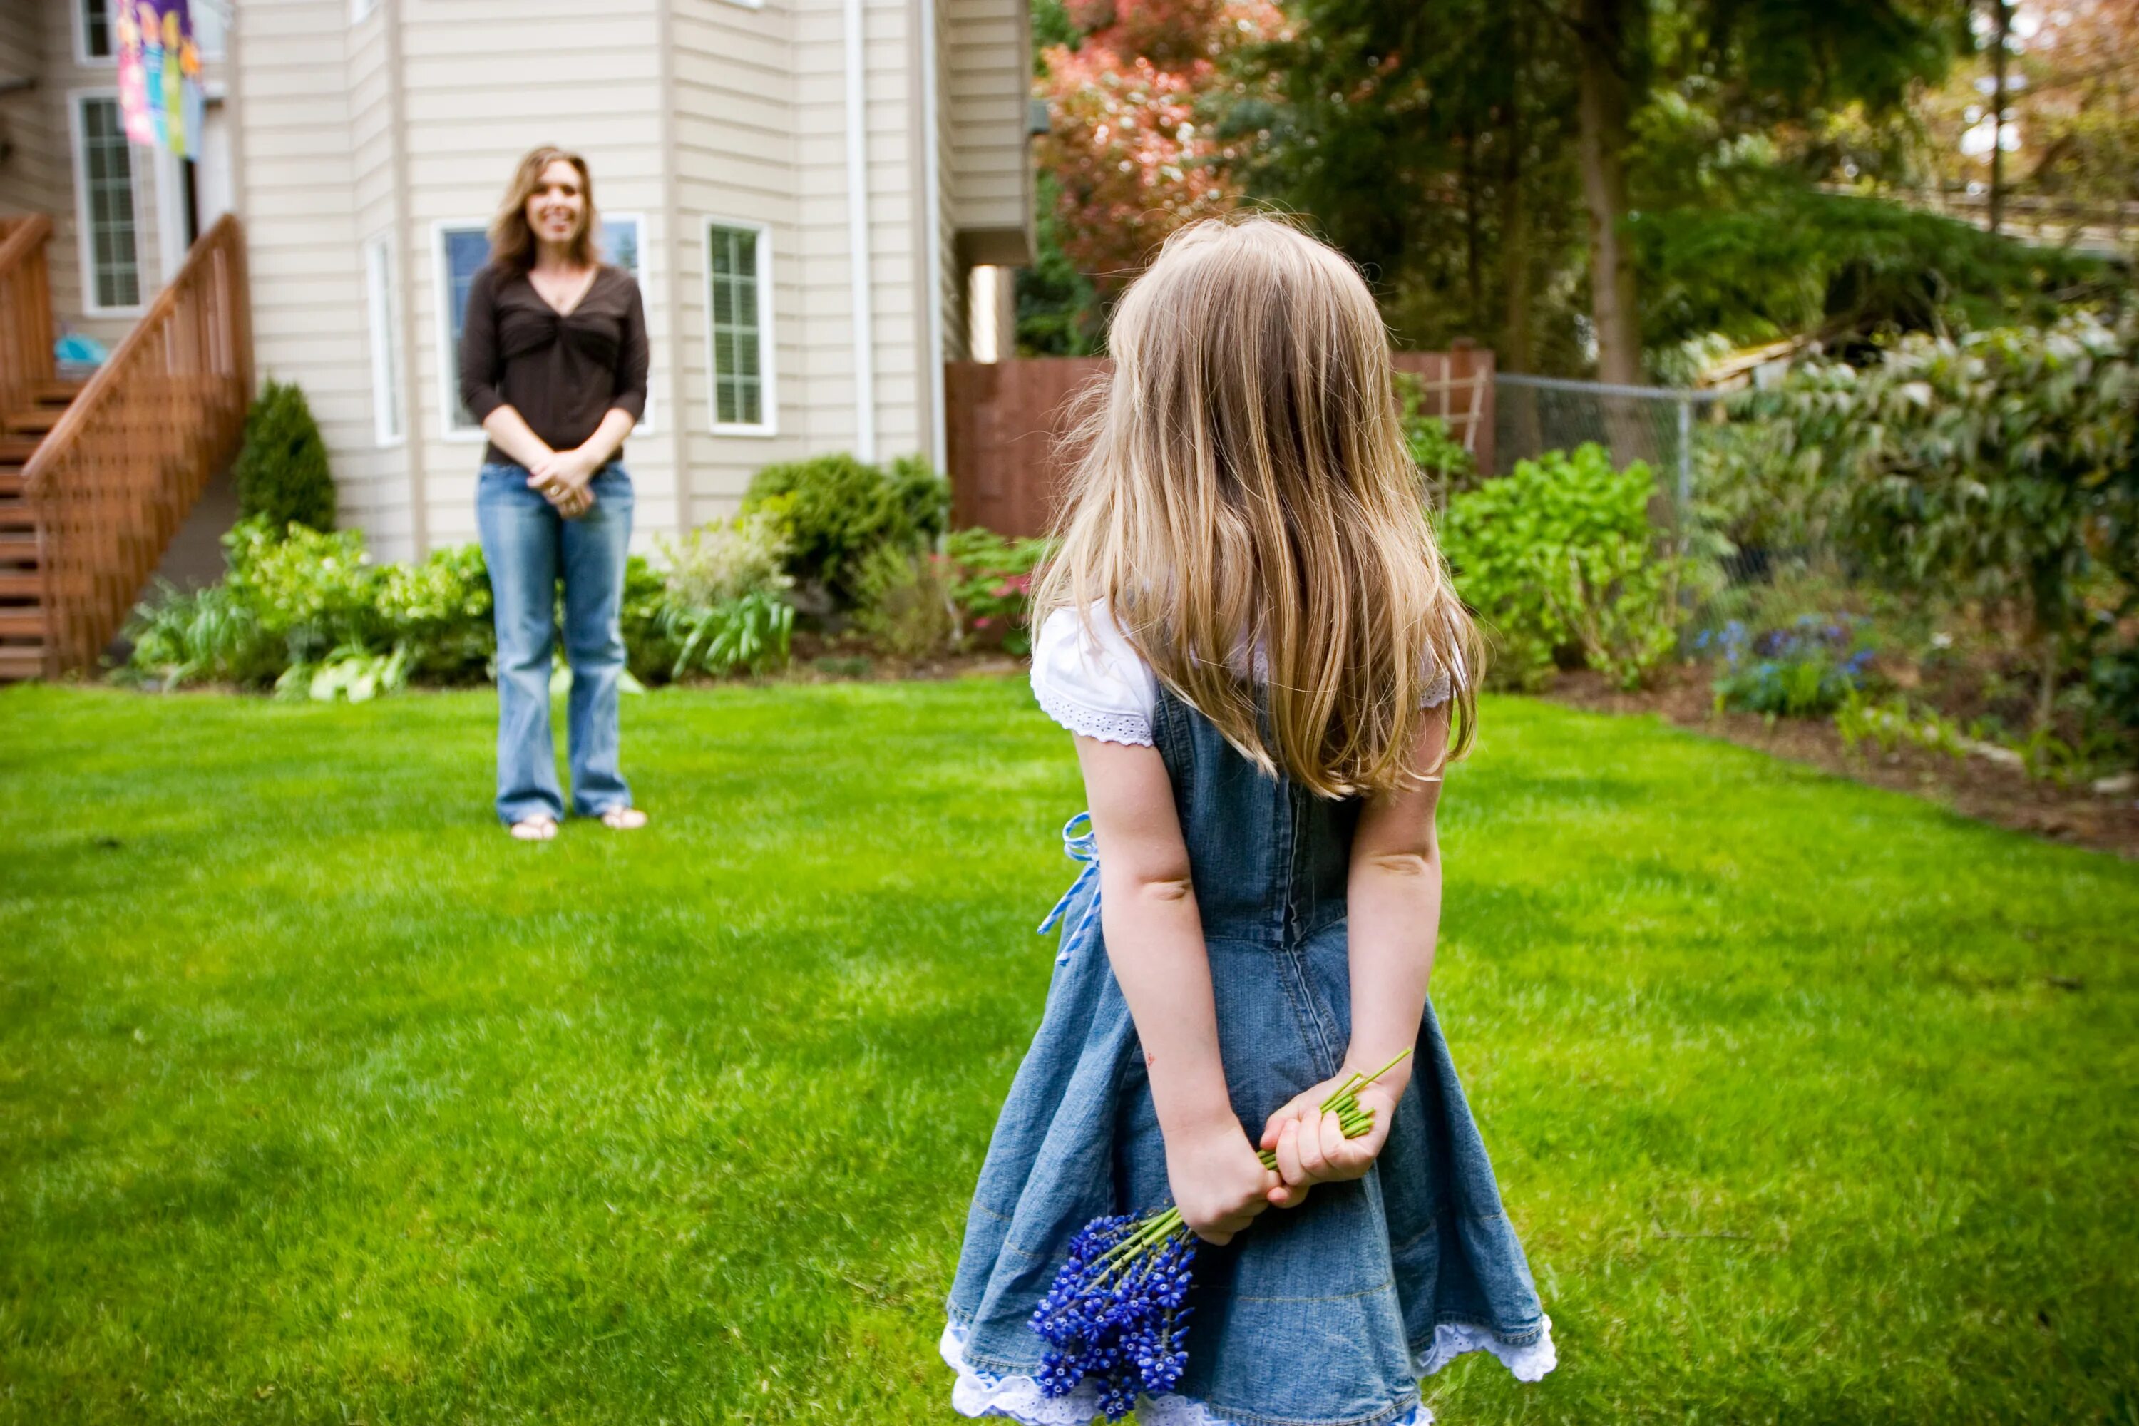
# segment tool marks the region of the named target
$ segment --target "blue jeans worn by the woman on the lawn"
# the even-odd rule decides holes
[[[522,466],[488,464],[477,477],[475,524],[498,626],[498,819],[507,825],[565,817],[550,740],[550,644],[560,575],[565,661],[571,665],[571,806],[582,817],[631,806],[631,789],[616,770],[631,477],[610,462],[590,490],[595,507],[565,520],[528,490]]]

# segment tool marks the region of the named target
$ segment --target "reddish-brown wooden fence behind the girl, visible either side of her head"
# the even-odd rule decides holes
[[[952,524],[1046,534],[1070,477],[1070,408],[1078,391],[1112,370],[1106,357],[945,363]],[[1478,468],[1491,470],[1493,353],[1399,351],[1397,370],[1418,376],[1422,410],[1448,421]]]

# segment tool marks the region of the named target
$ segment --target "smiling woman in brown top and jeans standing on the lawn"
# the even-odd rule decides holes
[[[565,815],[550,740],[558,577],[573,810],[646,825],[616,765],[631,541],[620,458],[646,415],[646,308],[631,274],[599,261],[595,233],[586,160],[554,148],[522,158],[460,338],[460,400],[490,436],[475,520],[498,626],[498,819],[528,842],[556,836]]]

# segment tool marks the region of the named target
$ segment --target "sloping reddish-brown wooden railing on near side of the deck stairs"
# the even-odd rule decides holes
[[[246,246],[225,216],[24,468],[43,541],[47,676],[94,667],[237,449],[250,396]]]

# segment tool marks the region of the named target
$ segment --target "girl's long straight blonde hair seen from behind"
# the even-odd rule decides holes
[[[1123,295],[1110,348],[1035,622],[1104,599],[1234,748],[1324,797],[1414,780],[1444,673],[1461,757],[1484,650],[1358,269],[1273,218],[1198,222]]]

